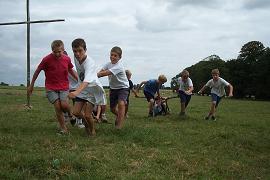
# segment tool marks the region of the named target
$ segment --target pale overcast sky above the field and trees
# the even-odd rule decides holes
[[[270,0],[30,0],[30,14],[31,20],[65,19],[31,25],[31,78],[55,39],[73,61],[71,42],[84,38],[100,66],[120,46],[134,83],[159,74],[170,82],[212,54],[236,58],[249,41],[270,45]],[[0,0],[0,22],[25,19],[26,1]],[[26,84],[26,25],[0,26],[0,44],[0,82]],[[107,78],[101,82],[108,85]],[[44,73],[36,85],[44,86]]]

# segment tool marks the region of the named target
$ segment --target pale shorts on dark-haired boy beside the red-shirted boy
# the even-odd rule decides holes
[[[87,100],[94,105],[107,104],[105,91],[102,87],[99,86],[87,87],[87,89],[83,90],[77,97]]]

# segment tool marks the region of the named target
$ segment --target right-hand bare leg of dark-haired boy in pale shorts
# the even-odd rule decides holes
[[[87,123],[86,132],[88,135],[95,135],[94,119],[92,116],[94,105],[92,103],[86,103],[84,107],[84,119]]]

